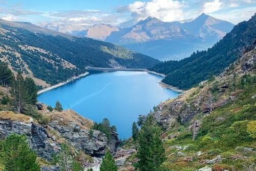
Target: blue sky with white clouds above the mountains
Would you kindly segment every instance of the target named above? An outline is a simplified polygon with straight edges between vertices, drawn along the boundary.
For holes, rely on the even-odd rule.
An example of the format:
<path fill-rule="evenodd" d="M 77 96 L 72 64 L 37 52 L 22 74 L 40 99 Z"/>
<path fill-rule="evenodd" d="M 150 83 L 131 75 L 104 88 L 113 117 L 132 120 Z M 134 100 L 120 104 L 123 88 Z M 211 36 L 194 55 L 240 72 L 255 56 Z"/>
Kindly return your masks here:
<path fill-rule="evenodd" d="M 256 0 L 0 0 L 0 18 L 37 25 L 110 23 L 128 27 L 148 16 L 186 21 L 203 12 L 236 24 L 256 12 Z"/>

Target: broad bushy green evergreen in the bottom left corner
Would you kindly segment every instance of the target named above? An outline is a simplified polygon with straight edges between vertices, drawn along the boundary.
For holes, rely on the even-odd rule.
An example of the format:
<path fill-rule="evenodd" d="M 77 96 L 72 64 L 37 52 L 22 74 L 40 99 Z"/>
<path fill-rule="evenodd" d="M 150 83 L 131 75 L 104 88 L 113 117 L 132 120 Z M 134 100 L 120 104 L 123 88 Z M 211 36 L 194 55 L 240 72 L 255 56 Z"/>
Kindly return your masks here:
<path fill-rule="evenodd" d="M 4 171 L 40 171 L 36 154 L 29 148 L 26 135 L 11 134 L 3 142 Z"/>

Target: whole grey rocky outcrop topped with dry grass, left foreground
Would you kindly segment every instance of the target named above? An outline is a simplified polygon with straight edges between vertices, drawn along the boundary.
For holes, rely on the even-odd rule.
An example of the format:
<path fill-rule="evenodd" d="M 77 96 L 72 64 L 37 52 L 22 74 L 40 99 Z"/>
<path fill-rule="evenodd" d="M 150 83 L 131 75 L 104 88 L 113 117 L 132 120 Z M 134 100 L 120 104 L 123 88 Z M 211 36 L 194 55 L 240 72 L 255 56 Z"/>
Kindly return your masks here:
<path fill-rule="evenodd" d="M 40 125 L 36 119 L 9 111 L 0 112 L 0 139 L 12 133 L 25 134 L 38 157 L 51 162 L 52 155 L 60 150 L 61 143 L 68 143 L 75 151 L 91 157 L 102 157 L 107 148 L 115 152 L 119 142 L 113 132 L 111 140 L 97 130 L 90 130 L 93 122 L 72 110 L 49 112 L 41 106 L 41 113 L 49 118 L 49 124 Z M 42 166 L 42 170 L 58 170 L 55 166 Z"/>

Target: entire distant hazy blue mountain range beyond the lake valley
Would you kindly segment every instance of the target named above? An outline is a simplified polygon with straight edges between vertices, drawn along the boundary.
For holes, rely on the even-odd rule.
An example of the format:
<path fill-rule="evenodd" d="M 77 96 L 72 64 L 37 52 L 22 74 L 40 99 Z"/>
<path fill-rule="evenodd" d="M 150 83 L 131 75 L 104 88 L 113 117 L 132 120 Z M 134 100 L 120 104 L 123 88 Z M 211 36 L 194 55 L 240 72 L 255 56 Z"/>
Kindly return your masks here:
<path fill-rule="evenodd" d="M 73 36 L 111 42 L 160 60 L 180 60 L 214 45 L 234 25 L 202 13 L 188 22 L 163 22 L 155 17 L 147 17 L 130 28 L 103 24 L 53 26 L 48 23 L 41 26 Z"/>

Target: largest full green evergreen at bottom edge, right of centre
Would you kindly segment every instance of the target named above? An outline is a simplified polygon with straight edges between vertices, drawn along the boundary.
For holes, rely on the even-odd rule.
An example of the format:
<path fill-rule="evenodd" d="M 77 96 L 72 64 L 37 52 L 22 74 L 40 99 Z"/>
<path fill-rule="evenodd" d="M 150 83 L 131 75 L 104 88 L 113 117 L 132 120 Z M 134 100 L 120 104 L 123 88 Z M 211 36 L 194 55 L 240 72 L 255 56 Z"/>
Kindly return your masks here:
<path fill-rule="evenodd" d="M 135 167 L 140 171 L 158 171 L 165 161 L 165 150 L 160 139 L 160 130 L 153 116 L 148 116 L 138 135 L 138 163 Z"/>

